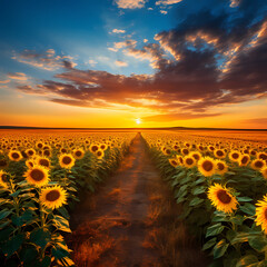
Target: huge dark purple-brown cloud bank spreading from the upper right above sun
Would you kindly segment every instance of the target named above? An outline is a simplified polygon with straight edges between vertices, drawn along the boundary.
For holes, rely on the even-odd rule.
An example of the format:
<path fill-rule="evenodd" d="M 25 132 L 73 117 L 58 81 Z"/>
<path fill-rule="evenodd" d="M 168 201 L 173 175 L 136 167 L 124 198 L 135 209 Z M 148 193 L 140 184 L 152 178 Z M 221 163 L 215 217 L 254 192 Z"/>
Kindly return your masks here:
<path fill-rule="evenodd" d="M 115 43 L 116 51 L 122 48 L 130 56 L 150 60 L 157 68 L 152 76 L 79 70 L 61 59 L 66 70 L 55 76 L 60 82 L 46 80 L 36 88 L 19 89 L 53 95 L 51 101 L 62 105 L 142 106 L 164 113 L 150 120 L 218 116 L 210 115 L 209 108 L 266 96 L 267 17 L 263 10 L 267 4 L 251 2 L 241 0 L 230 8 L 226 1 L 217 10 L 211 6 L 188 13 L 175 29 L 159 32 L 155 37 L 158 43 L 141 49 L 135 40 Z"/>

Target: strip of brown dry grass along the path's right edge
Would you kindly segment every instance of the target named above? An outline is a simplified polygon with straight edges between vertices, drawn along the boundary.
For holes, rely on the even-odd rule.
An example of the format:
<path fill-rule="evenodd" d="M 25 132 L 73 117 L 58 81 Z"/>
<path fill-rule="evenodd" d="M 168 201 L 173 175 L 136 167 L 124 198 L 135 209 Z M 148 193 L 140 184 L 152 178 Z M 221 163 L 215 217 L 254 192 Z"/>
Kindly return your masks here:
<path fill-rule="evenodd" d="M 170 189 L 161 181 L 151 182 L 149 198 L 151 205 L 147 225 L 151 230 L 144 241 L 145 247 L 157 247 L 166 267 L 208 266 L 200 246 L 188 235 L 178 216 L 181 207 L 175 202 Z"/>

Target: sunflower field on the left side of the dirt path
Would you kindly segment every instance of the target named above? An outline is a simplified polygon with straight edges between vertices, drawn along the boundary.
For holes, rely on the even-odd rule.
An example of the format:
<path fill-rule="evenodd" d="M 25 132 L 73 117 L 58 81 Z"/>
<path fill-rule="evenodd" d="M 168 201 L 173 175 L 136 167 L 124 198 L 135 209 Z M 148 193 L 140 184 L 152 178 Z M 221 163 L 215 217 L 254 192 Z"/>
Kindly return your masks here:
<path fill-rule="evenodd" d="M 73 266 L 65 241 L 71 209 L 116 170 L 134 137 L 1 132 L 1 266 Z"/>

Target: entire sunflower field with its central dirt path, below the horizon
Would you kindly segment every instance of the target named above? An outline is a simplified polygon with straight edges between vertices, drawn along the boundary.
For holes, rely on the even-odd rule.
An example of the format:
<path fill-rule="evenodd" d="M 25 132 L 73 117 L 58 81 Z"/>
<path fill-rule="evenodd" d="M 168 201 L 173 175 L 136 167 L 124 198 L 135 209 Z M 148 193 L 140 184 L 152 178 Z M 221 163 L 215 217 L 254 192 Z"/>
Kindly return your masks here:
<path fill-rule="evenodd" d="M 1 130 L 2 266 L 267 266 L 267 132 Z"/>

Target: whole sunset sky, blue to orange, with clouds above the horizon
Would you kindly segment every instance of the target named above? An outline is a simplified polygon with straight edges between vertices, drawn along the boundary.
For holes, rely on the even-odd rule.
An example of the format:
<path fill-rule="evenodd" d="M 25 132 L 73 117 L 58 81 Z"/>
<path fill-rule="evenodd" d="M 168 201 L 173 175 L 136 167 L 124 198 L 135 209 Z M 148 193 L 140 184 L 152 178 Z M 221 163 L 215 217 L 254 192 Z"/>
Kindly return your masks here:
<path fill-rule="evenodd" d="M 267 129 L 267 1 L 3 0 L 0 125 Z"/>

